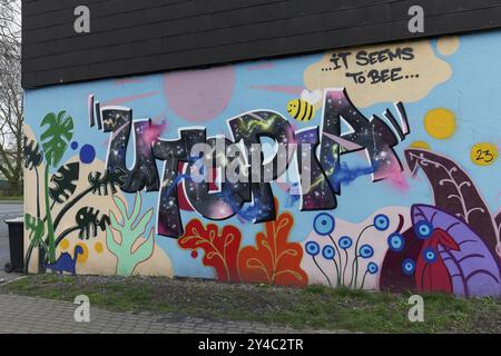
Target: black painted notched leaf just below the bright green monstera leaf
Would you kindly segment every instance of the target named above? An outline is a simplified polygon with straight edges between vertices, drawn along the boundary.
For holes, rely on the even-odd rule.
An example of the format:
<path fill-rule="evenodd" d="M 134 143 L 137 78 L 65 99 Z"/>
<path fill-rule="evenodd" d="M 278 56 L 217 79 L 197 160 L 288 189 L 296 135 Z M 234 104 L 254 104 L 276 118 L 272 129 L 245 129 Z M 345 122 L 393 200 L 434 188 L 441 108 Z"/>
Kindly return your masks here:
<path fill-rule="evenodd" d="M 62 166 L 50 179 L 49 195 L 58 204 L 67 201 L 77 189 L 77 181 L 80 176 L 80 164 L 71 162 Z"/>

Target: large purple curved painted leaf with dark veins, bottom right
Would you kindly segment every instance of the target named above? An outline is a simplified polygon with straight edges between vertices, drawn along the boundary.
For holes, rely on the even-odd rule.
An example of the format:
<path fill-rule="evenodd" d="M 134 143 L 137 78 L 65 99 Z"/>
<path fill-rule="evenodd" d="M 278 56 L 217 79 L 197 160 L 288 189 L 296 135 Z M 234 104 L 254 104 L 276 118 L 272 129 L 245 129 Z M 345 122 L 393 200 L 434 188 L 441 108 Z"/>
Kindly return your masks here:
<path fill-rule="evenodd" d="M 459 245 L 455 251 L 439 245 L 439 253 L 451 276 L 453 291 L 459 296 L 501 296 L 500 269 L 482 239 L 462 220 L 435 207 L 415 205 L 413 225 L 430 222 L 448 233 Z"/>

